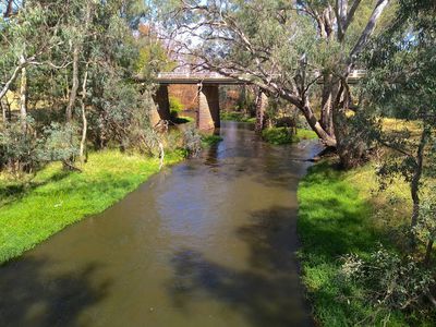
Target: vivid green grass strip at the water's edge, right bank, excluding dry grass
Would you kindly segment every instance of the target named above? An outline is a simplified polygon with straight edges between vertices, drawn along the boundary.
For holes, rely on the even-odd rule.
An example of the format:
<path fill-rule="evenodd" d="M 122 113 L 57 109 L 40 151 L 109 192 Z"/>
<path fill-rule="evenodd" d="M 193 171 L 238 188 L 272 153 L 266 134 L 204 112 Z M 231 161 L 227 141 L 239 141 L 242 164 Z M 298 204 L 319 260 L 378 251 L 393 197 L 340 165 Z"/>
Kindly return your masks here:
<path fill-rule="evenodd" d="M 371 204 L 329 164 L 310 169 L 299 202 L 299 253 L 316 319 L 324 326 L 350 326 L 371 316 L 371 306 L 359 300 L 360 289 L 340 278 L 342 255 L 365 257 L 386 239 L 372 227 Z"/>

